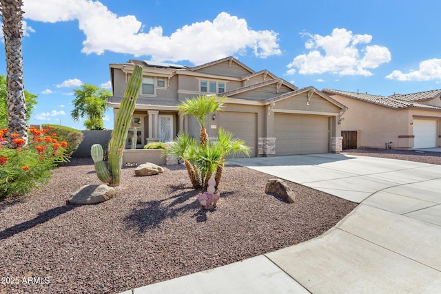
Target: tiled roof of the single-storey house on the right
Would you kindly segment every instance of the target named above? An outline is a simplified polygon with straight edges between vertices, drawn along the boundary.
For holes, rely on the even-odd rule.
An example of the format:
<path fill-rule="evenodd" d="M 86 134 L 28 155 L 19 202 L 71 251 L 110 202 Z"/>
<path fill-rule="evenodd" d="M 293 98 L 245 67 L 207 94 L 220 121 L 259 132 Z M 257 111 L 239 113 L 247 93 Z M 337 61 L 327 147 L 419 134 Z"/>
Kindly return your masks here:
<path fill-rule="evenodd" d="M 380 96 L 373 94 L 363 94 L 355 92 L 347 92 L 340 90 L 323 89 L 322 92 L 326 94 L 337 94 L 359 101 L 365 101 L 384 107 L 393 109 L 408 109 L 408 108 L 422 108 L 422 109 L 441 109 L 439 106 L 427 105 L 419 103 L 418 101 L 427 101 L 436 98 L 441 94 L 441 90 L 431 90 L 426 92 L 419 92 L 413 94 L 393 94 L 391 96 Z M 438 94 L 437 94 L 438 93 Z"/>

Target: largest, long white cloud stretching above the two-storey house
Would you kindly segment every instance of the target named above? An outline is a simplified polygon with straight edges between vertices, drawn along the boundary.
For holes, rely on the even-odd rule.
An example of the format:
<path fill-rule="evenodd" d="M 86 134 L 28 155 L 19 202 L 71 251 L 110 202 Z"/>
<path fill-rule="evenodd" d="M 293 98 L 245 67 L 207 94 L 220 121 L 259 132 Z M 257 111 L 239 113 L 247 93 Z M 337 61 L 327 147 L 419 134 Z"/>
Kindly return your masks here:
<path fill-rule="evenodd" d="M 245 19 L 221 12 L 213 21 L 176 28 L 170 36 L 156 26 L 145 25 L 133 15 L 118 16 L 99 1 L 27 0 L 24 17 L 55 23 L 78 20 L 86 36 L 82 52 L 103 54 L 105 50 L 134 56 L 152 56 L 156 61 L 190 61 L 201 64 L 252 50 L 265 58 L 279 55 L 278 34 L 272 30 L 252 30 Z M 111 38 L 109 36 L 112 36 Z"/>

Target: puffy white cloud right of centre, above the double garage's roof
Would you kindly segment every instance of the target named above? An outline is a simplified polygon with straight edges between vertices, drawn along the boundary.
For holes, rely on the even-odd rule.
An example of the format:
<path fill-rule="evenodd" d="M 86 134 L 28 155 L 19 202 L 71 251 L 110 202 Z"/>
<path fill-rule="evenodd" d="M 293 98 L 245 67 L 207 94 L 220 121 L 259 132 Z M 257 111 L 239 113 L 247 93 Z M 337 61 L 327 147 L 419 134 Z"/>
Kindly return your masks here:
<path fill-rule="evenodd" d="M 376 68 L 391 61 L 391 52 L 380 45 L 371 43 L 369 34 L 352 34 L 345 28 L 335 28 L 331 35 L 302 33 L 309 38 L 305 48 L 307 54 L 296 56 L 287 65 L 287 74 L 332 74 L 371 76 L 367 69 Z"/>

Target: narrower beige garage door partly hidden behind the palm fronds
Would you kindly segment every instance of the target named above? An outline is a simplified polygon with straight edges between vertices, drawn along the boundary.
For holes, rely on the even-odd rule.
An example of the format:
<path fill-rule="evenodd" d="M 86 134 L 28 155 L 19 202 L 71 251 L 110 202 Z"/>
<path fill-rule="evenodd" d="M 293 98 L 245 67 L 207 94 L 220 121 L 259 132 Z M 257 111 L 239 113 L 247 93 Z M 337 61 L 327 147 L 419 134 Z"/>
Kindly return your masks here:
<path fill-rule="evenodd" d="M 252 147 L 249 156 L 256 156 L 256 114 L 247 112 L 220 112 L 219 127 L 233 133 L 233 138 L 245 140 Z"/>

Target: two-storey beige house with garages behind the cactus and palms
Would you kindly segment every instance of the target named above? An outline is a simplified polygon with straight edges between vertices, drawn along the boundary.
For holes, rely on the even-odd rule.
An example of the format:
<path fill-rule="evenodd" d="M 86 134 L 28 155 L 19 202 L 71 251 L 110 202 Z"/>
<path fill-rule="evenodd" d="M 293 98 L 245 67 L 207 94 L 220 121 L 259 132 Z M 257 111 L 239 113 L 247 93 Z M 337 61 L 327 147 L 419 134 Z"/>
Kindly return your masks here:
<path fill-rule="evenodd" d="M 267 70 L 255 72 L 233 57 L 195 67 L 130 60 L 111 63 L 113 96 L 119 111 L 134 65 L 144 68 L 141 92 L 127 148 L 136 128 L 136 147 L 173 140 L 178 132 L 198 138 L 200 127 L 176 105 L 201 94 L 227 96 L 223 111 L 209 114 L 207 132 L 216 138 L 223 127 L 252 147 L 251 156 L 320 154 L 341 151 L 340 116 L 347 109 L 314 87 L 298 87 Z"/>

